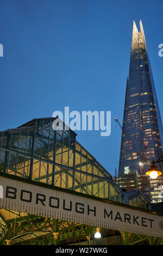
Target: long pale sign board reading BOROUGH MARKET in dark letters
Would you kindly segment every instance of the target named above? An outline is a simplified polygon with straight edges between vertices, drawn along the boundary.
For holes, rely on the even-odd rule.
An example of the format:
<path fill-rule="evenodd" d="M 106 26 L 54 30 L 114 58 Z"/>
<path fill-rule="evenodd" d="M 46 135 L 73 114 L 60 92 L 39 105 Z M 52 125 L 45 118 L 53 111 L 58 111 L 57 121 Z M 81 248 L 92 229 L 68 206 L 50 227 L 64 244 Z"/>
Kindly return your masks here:
<path fill-rule="evenodd" d="M 0 208 L 102 228 L 163 237 L 163 215 L 0 177 Z"/>

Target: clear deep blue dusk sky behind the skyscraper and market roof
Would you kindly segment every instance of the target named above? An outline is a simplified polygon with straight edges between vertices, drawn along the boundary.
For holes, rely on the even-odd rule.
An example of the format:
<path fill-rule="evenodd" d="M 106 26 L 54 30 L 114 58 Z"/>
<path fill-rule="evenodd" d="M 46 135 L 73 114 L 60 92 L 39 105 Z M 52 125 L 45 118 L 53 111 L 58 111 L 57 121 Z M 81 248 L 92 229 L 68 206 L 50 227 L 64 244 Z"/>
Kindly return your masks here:
<path fill-rule="evenodd" d="M 142 20 L 163 117 L 162 0 L 1 0 L 0 130 L 54 111 L 111 111 L 111 134 L 75 131 L 111 175 L 118 170 L 133 21 Z"/>

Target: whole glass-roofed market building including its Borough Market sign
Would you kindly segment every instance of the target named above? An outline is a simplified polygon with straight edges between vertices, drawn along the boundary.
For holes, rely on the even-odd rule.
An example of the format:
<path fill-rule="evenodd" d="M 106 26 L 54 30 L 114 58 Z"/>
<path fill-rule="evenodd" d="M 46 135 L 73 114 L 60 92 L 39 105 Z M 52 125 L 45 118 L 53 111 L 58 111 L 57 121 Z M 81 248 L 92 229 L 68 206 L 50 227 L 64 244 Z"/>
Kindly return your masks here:
<path fill-rule="evenodd" d="M 55 119 L 0 133 L 0 243 L 92 245 L 97 228 L 101 245 L 162 243 L 163 216 L 139 192 L 131 205 L 76 133 L 53 130 Z"/>

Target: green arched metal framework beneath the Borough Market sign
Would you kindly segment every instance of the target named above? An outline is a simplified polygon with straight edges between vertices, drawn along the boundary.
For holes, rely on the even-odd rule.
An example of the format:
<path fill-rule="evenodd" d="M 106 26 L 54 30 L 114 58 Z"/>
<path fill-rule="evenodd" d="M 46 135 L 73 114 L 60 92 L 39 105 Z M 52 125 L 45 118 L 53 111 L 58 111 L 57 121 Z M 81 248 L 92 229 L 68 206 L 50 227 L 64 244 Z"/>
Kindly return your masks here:
<path fill-rule="evenodd" d="M 95 231 L 96 227 L 81 223 L 0 210 L 0 245 L 65 245 L 80 241 L 90 245 Z M 103 236 L 112 234 L 111 230 L 105 229 L 101 229 L 101 233 Z M 114 235 L 118 233 L 122 245 L 163 245 L 163 239 L 158 237 L 114 231 Z"/>

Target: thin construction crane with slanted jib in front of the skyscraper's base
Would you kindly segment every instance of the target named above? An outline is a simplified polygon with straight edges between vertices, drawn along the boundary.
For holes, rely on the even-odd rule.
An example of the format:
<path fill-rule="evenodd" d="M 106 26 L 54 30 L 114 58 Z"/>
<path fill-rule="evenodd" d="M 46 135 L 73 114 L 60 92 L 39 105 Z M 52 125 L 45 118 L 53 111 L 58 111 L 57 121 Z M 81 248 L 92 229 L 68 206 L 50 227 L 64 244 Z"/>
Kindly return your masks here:
<path fill-rule="evenodd" d="M 122 130 L 122 125 L 121 125 L 121 123 L 118 121 L 117 118 L 115 119 L 115 121 L 118 123 L 118 125 L 120 126 L 120 128 L 121 128 L 121 130 Z M 135 149 L 137 155 L 139 156 L 139 159 L 140 159 L 139 165 L 140 165 L 140 183 L 141 183 L 141 191 L 142 191 L 142 193 L 144 193 L 144 192 L 145 192 L 145 187 L 144 187 L 144 180 L 143 180 L 143 174 L 144 174 L 144 172 L 143 172 L 143 163 L 144 163 L 144 162 L 147 162 L 147 157 L 145 157 L 145 151 L 146 151 L 146 148 L 147 148 L 147 144 L 145 143 L 145 148 L 144 148 L 143 152 L 140 153 L 140 152 L 137 150 L 137 148 L 135 147 L 135 144 L 133 143 L 133 141 L 131 140 L 131 138 L 127 135 L 127 133 L 124 134 L 124 135 L 127 137 L 128 141 L 131 143 L 131 145 L 132 145 L 133 148 Z"/>

